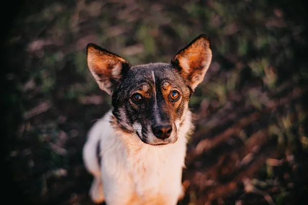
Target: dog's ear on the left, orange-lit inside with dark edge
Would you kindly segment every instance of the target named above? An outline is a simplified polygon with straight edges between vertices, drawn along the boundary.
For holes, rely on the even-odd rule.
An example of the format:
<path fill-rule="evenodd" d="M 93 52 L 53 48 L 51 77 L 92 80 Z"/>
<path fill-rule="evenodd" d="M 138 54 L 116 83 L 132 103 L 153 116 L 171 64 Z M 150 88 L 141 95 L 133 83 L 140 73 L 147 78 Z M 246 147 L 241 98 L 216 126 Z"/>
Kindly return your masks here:
<path fill-rule="evenodd" d="M 120 85 L 123 76 L 131 67 L 119 55 L 95 44 L 87 46 L 87 63 L 99 87 L 108 94 Z"/>

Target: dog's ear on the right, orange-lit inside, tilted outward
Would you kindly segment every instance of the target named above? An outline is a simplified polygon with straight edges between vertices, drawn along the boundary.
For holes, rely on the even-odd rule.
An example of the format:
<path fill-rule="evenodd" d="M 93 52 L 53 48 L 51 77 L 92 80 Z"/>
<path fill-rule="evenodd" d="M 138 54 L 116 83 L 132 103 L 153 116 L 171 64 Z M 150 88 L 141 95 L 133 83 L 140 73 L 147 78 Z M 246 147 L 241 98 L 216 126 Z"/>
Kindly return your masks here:
<path fill-rule="evenodd" d="M 201 34 L 180 50 L 171 60 L 171 64 L 179 70 L 190 89 L 194 91 L 203 80 L 211 57 L 209 38 L 207 35 Z"/>

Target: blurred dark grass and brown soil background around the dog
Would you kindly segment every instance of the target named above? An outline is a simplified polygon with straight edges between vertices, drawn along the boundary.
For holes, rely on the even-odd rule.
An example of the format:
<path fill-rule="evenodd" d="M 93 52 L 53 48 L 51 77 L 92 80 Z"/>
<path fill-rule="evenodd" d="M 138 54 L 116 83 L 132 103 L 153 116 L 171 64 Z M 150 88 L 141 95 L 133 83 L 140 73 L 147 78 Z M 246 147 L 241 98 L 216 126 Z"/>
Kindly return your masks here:
<path fill-rule="evenodd" d="M 169 63 L 201 33 L 213 60 L 190 99 L 199 118 L 179 204 L 308 204 L 304 3 L 28 0 L 3 10 L 10 204 L 92 204 L 82 147 L 110 98 L 87 68 L 88 43 L 132 65 Z"/>

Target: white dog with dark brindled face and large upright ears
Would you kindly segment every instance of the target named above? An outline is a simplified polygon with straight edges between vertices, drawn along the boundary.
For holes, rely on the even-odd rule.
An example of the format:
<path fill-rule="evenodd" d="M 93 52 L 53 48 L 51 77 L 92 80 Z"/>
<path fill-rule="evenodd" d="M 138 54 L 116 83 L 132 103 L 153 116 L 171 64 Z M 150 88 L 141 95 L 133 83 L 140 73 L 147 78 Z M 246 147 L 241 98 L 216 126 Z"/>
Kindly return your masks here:
<path fill-rule="evenodd" d="M 194 128 L 188 101 L 211 57 L 206 34 L 192 40 L 170 64 L 131 66 L 119 55 L 88 44 L 88 68 L 112 104 L 90 129 L 83 148 L 85 167 L 94 177 L 89 191 L 93 202 L 172 205 L 184 196 L 182 170 Z"/>

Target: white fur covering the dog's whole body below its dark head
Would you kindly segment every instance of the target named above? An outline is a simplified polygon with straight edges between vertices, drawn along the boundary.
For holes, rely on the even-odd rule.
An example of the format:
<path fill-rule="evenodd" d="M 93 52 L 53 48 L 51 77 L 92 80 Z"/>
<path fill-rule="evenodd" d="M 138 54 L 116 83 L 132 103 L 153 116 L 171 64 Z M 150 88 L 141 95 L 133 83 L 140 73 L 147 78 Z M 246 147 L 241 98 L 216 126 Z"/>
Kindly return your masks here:
<path fill-rule="evenodd" d="M 190 111 L 178 129 L 178 140 L 163 146 L 145 144 L 136 134 L 125 134 L 112 127 L 111 115 L 109 111 L 95 123 L 83 150 L 85 166 L 94 176 L 90 189 L 92 200 L 105 199 L 108 205 L 177 204 L 183 195 L 181 179 L 185 166 L 185 133 L 191 128 Z M 139 129 L 140 125 L 134 127 Z M 99 140 L 101 168 L 96 157 Z"/>

